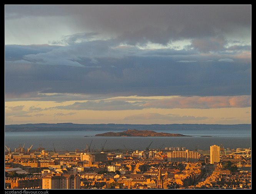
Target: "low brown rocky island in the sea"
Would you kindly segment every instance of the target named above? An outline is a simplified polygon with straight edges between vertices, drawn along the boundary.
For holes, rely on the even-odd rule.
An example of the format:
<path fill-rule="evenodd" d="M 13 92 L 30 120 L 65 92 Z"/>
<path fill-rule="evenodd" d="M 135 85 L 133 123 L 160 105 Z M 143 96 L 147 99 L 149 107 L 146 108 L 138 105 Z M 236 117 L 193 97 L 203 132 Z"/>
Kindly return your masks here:
<path fill-rule="evenodd" d="M 148 131 L 148 130 L 130 130 L 124 132 L 107 132 L 107 133 L 101 133 L 97 134 L 95 136 L 108 136 L 108 137 L 115 137 L 115 136 L 130 136 L 130 137 L 185 137 L 190 135 L 182 135 L 179 133 L 158 133 L 154 131 Z"/>

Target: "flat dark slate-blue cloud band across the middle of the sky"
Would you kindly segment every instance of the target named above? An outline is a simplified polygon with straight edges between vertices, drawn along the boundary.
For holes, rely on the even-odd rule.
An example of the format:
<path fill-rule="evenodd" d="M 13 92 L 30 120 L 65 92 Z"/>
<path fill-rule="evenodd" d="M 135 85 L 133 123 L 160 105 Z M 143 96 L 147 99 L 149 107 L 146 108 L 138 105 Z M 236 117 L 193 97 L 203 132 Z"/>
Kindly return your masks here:
<path fill-rule="evenodd" d="M 182 59 L 197 62 L 175 62 Z M 250 63 L 236 62 L 235 59 L 232 59 L 234 62 L 226 62 L 227 58 L 223 59 L 206 62 L 201 61 L 200 55 L 193 58 L 95 58 L 96 66 L 101 68 L 31 65 L 9 61 L 5 67 L 5 95 L 7 98 L 30 97 L 36 92 L 112 96 L 249 95 Z M 93 66 L 90 60 L 80 59 L 79 64 Z M 55 61 L 58 62 L 58 59 Z"/>

